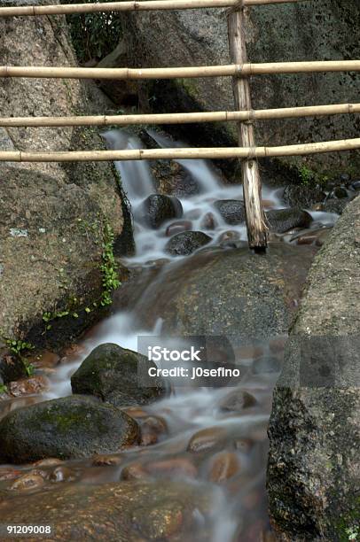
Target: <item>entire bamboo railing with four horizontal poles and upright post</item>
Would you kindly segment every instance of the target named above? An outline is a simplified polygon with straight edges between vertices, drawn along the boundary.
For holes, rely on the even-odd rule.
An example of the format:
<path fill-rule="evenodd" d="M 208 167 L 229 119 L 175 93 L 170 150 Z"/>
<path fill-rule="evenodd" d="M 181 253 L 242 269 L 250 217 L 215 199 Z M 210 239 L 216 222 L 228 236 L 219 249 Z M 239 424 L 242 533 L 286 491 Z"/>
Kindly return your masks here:
<path fill-rule="evenodd" d="M 272 62 L 252 64 L 247 61 L 243 10 L 262 4 L 295 4 L 308 0 L 149 0 L 96 4 L 58 4 L 1 7 L 0 17 L 19 15 L 66 15 L 83 12 L 141 12 L 151 10 L 187 10 L 199 8 L 231 8 L 228 11 L 229 43 L 232 64 L 228 66 L 189 66 L 164 68 L 81 68 L 57 66 L 0 66 L 0 77 L 36 77 L 64 79 L 175 79 L 193 77 L 232 77 L 235 102 L 239 111 L 193 112 L 146 115 L 102 115 L 79 117 L 0 118 L 3 127 L 106 126 L 129 124 L 183 124 L 186 122 L 236 121 L 239 123 L 239 147 L 151 149 L 133 151 L 66 151 L 25 152 L 2 151 L 1 161 L 64 162 L 134 159 L 243 159 L 243 185 L 249 246 L 263 250 L 267 244 L 267 228 L 263 220 L 261 180 L 257 158 L 297 156 L 360 148 L 360 138 L 324 143 L 307 143 L 279 147 L 256 147 L 254 120 L 299 118 L 306 116 L 349 114 L 360 112 L 360 104 L 318 105 L 254 111 L 251 105 L 248 77 L 262 74 L 303 74 L 318 72 L 360 72 L 360 60 L 314 62 Z"/>

